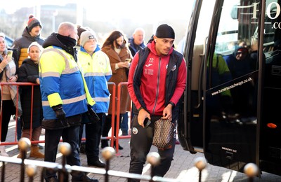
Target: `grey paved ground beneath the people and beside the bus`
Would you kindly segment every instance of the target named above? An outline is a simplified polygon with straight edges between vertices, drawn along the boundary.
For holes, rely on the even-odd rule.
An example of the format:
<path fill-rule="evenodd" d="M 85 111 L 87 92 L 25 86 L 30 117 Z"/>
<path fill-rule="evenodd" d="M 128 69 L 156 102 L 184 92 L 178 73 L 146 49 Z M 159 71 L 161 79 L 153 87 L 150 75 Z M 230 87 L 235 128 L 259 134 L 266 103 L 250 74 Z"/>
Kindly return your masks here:
<path fill-rule="evenodd" d="M 14 141 L 15 137 L 15 122 L 11 120 L 8 132 L 7 141 Z M 44 139 L 42 134 L 41 139 Z M 129 139 L 120 139 L 119 143 L 124 147 L 124 150 L 119 151 L 117 155 L 110 161 L 110 169 L 120 172 L 129 171 Z M 16 158 L 18 155 L 18 147 L 15 145 L 6 146 L 8 154 L 12 158 Z M 41 150 L 44 152 L 44 150 Z M 152 146 L 151 151 L 156 151 L 156 148 Z M 28 154 L 27 154 L 28 155 Z M 61 155 L 58 155 L 57 162 L 61 162 Z M 199 181 L 199 172 L 194 167 L 194 160 L 197 157 L 202 157 L 201 153 L 190 154 L 188 151 L 183 151 L 180 145 L 176 145 L 176 152 L 174 154 L 174 161 L 171 164 L 171 168 L 165 177 L 169 179 L 178 179 L 178 181 Z M 81 165 L 87 167 L 86 155 L 81 154 Z M 102 157 L 100 157 L 102 158 Z M 30 158 L 31 160 L 41 160 Z M 0 164 L 2 169 L 2 164 Z M 96 168 L 98 170 L 98 168 Z M 41 168 L 37 169 L 37 175 L 34 177 L 34 181 L 40 181 Z M 97 171 L 98 172 L 98 171 Z M 150 165 L 145 165 L 144 174 L 150 174 Z M 1 176 L 1 174 L 0 174 Z M 105 176 L 100 174 L 89 174 L 90 177 L 99 179 L 100 182 L 105 180 Z M 8 164 L 6 165 L 5 181 L 20 181 L 20 165 Z M 27 177 L 25 178 L 27 181 Z M 126 181 L 126 179 L 119 177 L 110 177 L 110 181 L 119 182 Z M 222 167 L 216 167 L 213 165 L 207 165 L 207 168 L 202 171 L 202 181 L 249 181 L 245 174 L 235 172 L 230 169 L 224 169 Z M 273 174 L 263 173 L 261 179 L 254 178 L 254 181 L 281 181 L 281 176 Z"/>

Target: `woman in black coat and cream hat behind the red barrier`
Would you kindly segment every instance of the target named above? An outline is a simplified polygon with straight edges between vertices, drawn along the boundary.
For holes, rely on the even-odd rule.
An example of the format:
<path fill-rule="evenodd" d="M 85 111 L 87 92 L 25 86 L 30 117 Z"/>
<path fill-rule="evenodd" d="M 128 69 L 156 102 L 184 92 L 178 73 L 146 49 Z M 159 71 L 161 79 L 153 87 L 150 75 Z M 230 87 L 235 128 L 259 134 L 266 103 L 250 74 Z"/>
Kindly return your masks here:
<path fill-rule="evenodd" d="M 29 57 L 22 62 L 22 66 L 18 71 L 18 82 L 37 83 L 39 82 L 39 58 L 43 51 L 42 46 L 33 42 L 27 49 Z M 22 103 L 22 137 L 30 139 L 31 141 L 39 141 L 41 135 L 41 122 L 43 120 L 42 102 L 40 86 L 35 85 L 33 90 L 32 102 L 32 86 L 21 86 L 22 92 L 20 94 L 20 101 Z M 31 104 L 32 116 L 31 116 Z M 30 125 L 32 119 L 32 126 Z M 32 133 L 30 133 L 32 127 Z M 30 138 L 31 137 L 31 138 Z M 22 155 L 18 155 L 22 158 Z M 30 158 L 44 158 L 44 154 L 39 151 L 38 144 L 32 144 Z"/>

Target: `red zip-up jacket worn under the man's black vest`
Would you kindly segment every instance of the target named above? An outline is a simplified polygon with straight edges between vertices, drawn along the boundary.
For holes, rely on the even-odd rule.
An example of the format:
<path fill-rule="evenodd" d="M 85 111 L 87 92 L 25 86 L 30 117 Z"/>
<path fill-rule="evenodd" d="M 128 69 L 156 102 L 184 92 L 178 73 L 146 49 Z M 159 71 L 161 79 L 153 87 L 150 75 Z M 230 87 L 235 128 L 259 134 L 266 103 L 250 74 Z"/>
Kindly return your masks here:
<path fill-rule="evenodd" d="M 163 57 L 159 57 L 157 55 L 155 50 L 155 42 L 149 43 L 148 48 L 150 49 L 150 53 L 145 60 L 145 66 L 143 66 L 143 73 L 141 75 L 141 95 L 145 102 L 147 111 L 152 115 L 162 116 L 163 110 L 165 108 L 166 70 L 171 52 L 173 52 L 173 48 L 171 48 L 168 55 Z M 135 72 L 136 66 L 138 65 L 138 53 L 133 57 L 128 79 L 129 94 L 133 103 L 136 105 L 136 109 L 141 108 L 141 104 L 138 102 L 138 98 L 133 90 L 133 74 Z M 179 68 L 176 69 L 178 69 L 176 90 L 169 101 L 174 102 L 174 104 L 178 103 L 178 100 L 181 98 L 181 95 L 185 90 L 186 65 L 184 59 Z"/>

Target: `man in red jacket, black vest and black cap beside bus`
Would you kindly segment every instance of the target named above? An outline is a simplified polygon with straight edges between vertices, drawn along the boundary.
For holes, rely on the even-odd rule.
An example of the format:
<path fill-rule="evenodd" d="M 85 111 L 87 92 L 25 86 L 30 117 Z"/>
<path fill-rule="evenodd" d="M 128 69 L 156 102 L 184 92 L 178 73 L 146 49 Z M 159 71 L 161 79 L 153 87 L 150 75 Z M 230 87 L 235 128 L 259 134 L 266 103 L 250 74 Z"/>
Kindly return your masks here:
<path fill-rule="evenodd" d="M 153 139 L 154 122 L 159 118 L 175 123 L 178 101 L 186 85 L 186 64 L 181 53 L 174 50 L 175 33 L 169 25 L 160 25 L 147 47 L 133 57 L 129 71 L 128 90 L 136 106 L 131 123 L 130 173 L 141 174 Z M 147 124 L 151 120 L 151 124 Z M 171 148 L 159 150 L 160 164 L 156 176 L 164 176 L 171 166 L 176 130 Z M 139 181 L 130 179 L 130 181 Z"/>

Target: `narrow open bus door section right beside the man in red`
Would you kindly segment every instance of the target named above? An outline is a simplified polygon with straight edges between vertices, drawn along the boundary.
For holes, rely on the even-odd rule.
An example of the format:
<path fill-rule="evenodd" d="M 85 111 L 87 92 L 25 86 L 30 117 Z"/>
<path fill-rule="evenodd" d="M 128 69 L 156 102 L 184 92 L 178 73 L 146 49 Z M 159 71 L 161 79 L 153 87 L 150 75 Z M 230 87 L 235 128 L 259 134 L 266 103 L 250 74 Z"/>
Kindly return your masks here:
<path fill-rule="evenodd" d="M 184 150 L 203 152 L 202 70 L 205 41 L 211 25 L 214 0 L 194 0 L 183 55 L 188 66 L 184 106 L 178 119 L 178 139 Z"/>

